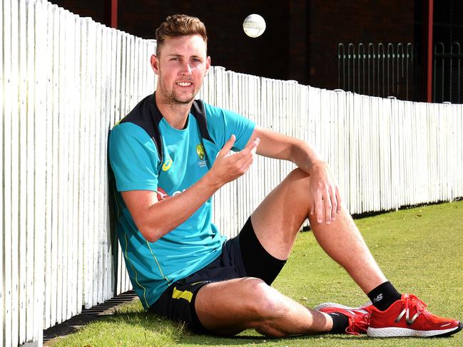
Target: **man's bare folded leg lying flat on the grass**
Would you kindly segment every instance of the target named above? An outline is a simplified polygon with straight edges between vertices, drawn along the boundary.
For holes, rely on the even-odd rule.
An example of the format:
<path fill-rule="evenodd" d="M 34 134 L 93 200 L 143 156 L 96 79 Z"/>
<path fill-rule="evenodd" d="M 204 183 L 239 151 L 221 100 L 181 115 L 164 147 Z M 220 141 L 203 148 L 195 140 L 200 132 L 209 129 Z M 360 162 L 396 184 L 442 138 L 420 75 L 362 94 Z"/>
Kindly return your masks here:
<path fill-rule="evenodd" d="M 254 328 L 265 336 L 281 337 L 332 328 L 327 314 L 307 309 L 252 277 L 203 286 L 196 296 L 195 309 L 203 326 L 220 335 Z"/>

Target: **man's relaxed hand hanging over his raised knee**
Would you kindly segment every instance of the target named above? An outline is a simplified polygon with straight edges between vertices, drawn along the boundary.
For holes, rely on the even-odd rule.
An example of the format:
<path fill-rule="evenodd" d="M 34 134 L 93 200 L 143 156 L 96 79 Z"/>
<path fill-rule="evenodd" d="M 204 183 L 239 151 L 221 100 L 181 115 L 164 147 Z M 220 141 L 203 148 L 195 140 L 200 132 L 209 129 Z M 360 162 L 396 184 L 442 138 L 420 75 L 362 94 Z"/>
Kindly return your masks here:
<path fill-rule="evenodd" d="M 317 222 L 330 224 L 336 213 L 341 212 L 341 196 L 339 188 L 326 162 L 317 161 L 312 164 L 310 175 L 310 199 L 313 200 L 310 214 L 317 215 Z"/>

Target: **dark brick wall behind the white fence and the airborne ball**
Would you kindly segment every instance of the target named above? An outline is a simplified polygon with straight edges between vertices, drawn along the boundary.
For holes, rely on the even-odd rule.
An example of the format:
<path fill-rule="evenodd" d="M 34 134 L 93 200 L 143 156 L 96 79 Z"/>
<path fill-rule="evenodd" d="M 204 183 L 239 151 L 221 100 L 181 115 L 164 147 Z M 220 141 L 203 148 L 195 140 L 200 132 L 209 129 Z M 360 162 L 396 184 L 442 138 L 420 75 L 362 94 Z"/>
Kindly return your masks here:
<path fill-rule="evenodd" d="M 110 0 L 54 0 L 81 16 L 108 23 Z M 118 0 L 118 29 L 154 38 L 169 14 L 198 16 L 208 29 L 215 66 L 268 78 L 337 88 L 337 43 L 413 42 L 415 0 Z M 265 33 L 249 38 L 243 20 L 257 13 Z"/>

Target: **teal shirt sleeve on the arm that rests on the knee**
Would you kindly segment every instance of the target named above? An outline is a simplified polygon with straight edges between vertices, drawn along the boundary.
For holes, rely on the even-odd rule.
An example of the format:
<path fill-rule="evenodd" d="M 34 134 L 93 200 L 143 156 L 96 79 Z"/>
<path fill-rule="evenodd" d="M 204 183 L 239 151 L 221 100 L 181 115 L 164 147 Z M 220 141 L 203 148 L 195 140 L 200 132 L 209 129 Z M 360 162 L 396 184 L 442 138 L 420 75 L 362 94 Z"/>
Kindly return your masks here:
<path fill-rule="evenodd" d="M 255 123 L 238 113 L 205 103 L 205 112 L 208 116 L 208 130 L 215 140 L 215 144 L 222 148 L 235 135 L 235 145 L 232 150 L 243 150 L 248 143 L 255 128 Z"/>

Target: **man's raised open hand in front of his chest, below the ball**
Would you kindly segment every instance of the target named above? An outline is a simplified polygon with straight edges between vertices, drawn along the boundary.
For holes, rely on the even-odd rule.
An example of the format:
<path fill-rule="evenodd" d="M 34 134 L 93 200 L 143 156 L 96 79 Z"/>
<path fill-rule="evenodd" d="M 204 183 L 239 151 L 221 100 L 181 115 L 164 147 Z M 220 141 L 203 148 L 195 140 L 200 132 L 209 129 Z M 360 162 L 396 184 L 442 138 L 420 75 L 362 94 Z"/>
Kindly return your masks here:
<path fill-rule="evenodd" d="M 210 168 L 210 175 L 215 182 L 220 185 L 225 185 L 228 182 L 236 180 L 238 177 L 244 175 L 248 171 L 255 157 L 255 151 L 259 145 L 260 139 L 255 138 L 246 145 L 243 150 L 233 155 L 230 155 L 230 150 L 235 143 L 235 135 L 231 135 L 222 150 L 218 152 L 213 167 Z"/>

